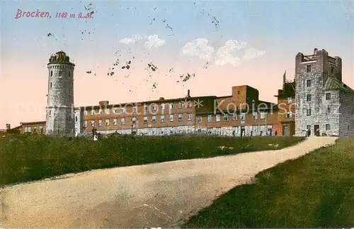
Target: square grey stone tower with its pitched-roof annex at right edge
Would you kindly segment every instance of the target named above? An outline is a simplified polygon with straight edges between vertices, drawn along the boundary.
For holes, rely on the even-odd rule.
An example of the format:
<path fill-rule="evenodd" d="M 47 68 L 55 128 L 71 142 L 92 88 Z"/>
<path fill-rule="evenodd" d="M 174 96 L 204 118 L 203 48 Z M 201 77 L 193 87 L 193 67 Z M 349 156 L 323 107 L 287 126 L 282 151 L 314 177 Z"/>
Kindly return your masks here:
<path fill-rule="evenodd" d="M 299 52 L 295 65 L 295 135 L 307 129 L 311 135 L 354 135 L 354 91 L 342 82 L 341 57 L 315 49 Z"/>

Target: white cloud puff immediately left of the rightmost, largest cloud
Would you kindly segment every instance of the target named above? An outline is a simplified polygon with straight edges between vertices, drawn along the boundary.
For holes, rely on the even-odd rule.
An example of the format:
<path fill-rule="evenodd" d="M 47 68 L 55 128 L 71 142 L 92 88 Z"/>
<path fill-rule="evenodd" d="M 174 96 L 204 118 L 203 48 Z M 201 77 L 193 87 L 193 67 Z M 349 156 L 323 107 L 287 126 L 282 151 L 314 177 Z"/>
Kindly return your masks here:
<path fill-rule="evenodd" d="M 212 60 L 214 48 L 207 46 L 208 40 L 198 38 L 190 43 L 186 43 L 182 48 L 180 55 L 189 55 L 191 57 L 199 57 L 202 60 Z"/>

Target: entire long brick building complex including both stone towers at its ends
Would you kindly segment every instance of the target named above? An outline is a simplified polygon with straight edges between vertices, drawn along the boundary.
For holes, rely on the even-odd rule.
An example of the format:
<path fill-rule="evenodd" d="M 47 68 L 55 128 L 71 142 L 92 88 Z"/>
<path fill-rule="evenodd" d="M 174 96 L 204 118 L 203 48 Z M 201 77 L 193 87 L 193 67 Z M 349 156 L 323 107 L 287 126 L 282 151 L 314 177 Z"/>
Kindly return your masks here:
<path fill-rule="evenodd" d="M 329 57 L 325 50 L 297 54 L 295 79 L 287 82 L 283 75 L 282 87 L 275 95 L 277 104 L 260 100 L 257 89 L 243 85 L 232 86 L 228 96 L 191 96 L 188 90 L 174 99 L 124 104 L 100 101 L 69 109 L 66 101 L 74 98 L 74 64 L 61 51 L 50 57 L 48 66 L 50 71 L 55 66 L 57 74 L 50 72 L 47 121 L 21 123 L 21 133 L 79 135 L 96 128 L 101 133 L 137 135 L 303 136 L 310 129 L 312 135 L 354 135 L 354 91 L 341 81 L 341 58 Z M 61 115 L 53 116 L 57 103 Z M 47 130 L 42 130 L 43 126 Z"/>

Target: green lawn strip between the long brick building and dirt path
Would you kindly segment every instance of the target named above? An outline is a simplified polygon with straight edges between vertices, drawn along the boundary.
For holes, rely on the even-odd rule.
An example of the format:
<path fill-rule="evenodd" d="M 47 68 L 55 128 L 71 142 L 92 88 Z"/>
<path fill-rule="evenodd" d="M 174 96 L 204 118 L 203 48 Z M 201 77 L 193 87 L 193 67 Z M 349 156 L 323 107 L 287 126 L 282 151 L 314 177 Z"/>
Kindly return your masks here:
<path fill-rule="evenodd" d="M 304 138 L 121 135 L 93 142 L 84 137 L 0 135 L 0 186 L 90 169 L 274 150 L 301 140 Z"/>

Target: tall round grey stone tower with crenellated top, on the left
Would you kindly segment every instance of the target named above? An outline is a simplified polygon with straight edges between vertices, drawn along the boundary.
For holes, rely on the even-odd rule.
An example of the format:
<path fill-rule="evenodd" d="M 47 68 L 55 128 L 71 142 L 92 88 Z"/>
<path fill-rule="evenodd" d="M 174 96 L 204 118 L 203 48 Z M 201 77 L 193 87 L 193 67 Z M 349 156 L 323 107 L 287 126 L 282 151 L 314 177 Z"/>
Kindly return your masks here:
<path fill-rule="evenodd" d="M 48 94 L 46 135 L 74 134 L 74 67 L 63 51 L 50 56 L 47 64 Z"/>

